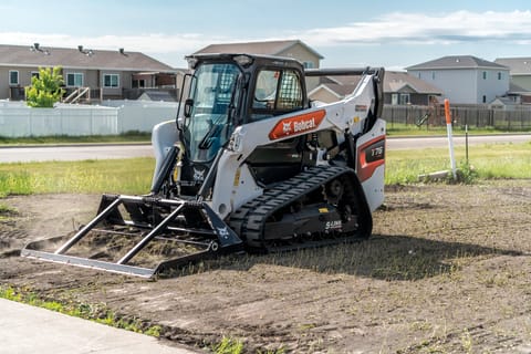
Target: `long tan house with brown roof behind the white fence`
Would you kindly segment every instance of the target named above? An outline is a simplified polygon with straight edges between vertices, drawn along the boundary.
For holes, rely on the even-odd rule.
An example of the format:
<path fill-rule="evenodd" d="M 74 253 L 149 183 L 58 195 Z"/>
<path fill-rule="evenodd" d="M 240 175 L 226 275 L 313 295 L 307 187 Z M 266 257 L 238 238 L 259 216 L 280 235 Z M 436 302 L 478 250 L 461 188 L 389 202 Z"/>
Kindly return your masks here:
<path fill-rule="evenodd" d="M 124 49 L 0 44 L 0 100 L 23 100 L 24 86 L 39 75 L 39 67 L 54 66 L 62 67 L 66 95 L 74 91 L 82 93 L 80 87 L 83 87 L 84 97 L 92 100 L 135 100 L 149 88 L 168 90 L 177 97 L 184 75 L 146 54 Z"/>

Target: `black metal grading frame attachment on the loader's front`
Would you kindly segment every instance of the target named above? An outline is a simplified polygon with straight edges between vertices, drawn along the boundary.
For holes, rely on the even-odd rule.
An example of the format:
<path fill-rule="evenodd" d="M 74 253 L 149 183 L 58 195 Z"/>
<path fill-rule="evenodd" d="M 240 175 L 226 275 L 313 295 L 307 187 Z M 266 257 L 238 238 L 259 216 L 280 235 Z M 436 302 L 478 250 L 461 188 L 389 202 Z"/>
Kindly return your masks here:
<path fill-rule="evenodd" d="M 97 216 L 70 239 L 30 242 L 21 256 L 150 278 L 241 249 L 206 202 L 104 195 Z"/>

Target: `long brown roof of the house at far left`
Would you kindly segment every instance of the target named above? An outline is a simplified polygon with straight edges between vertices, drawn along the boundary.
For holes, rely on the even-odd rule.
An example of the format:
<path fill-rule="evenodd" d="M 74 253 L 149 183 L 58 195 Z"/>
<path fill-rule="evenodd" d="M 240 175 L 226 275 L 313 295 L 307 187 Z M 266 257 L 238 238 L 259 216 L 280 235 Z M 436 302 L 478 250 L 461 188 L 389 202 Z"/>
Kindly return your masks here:
<path fill-rule="evenodd" d="M 175 72 L 171 66 L 139 52 L 124 51 L 122 53 L 118 50 L 67 49 L 42 45 L 0 44 L 0 65 L 10 67 L 62 66 L 63 69 L 79 70 Z"/>

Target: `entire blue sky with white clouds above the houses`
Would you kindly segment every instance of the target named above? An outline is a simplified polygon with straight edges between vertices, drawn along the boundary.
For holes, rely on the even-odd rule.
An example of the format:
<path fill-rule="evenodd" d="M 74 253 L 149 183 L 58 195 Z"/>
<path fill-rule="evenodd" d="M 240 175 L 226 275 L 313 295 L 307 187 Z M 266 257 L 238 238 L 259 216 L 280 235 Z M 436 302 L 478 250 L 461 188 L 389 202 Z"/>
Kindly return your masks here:
<path fill-rule="evenodd" d="M 174 67 L 209 44 L 301 40 L 321 67 L 531 56 L 529 0 L 2 0 L 0 44 L 143 52 Z"/>

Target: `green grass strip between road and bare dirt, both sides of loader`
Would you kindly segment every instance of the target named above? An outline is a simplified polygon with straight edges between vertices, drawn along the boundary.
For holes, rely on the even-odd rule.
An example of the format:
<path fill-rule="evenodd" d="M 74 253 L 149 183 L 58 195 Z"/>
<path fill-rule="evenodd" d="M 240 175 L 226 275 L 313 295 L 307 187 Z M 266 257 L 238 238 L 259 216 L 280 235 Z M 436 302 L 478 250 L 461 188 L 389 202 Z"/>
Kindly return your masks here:
<path fill-rule="evenodd" d="M 448 149 L 387 152 L 386 185 L 416 183 L 418 175 L 449 169 Z M 456 148 L 458 167 L 465 147 Z M 531 143 L 473 146 L 469 164 L 478 178 L 531 178 Z M 147 194 L 153 158 L 0 164 L 0 197 L 46 192 Z"/>

